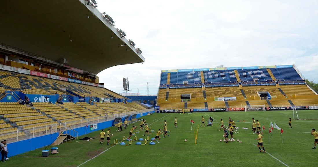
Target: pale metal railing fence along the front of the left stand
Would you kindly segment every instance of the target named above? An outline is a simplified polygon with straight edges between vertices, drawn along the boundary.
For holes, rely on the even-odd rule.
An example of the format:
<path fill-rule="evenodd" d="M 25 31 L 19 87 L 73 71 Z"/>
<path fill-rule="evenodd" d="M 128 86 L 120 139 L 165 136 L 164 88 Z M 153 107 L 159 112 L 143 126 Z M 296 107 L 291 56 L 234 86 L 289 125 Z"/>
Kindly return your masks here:
<path fill-rule="evenodd" d="M 89 126 L 97 123 L 102 123 L 110 120 L 114 120 L 115 118 L 123 118 L 129 115 L 140 114 L 144 112 L 152 112 L 154 109 L 144 109 L 139 111 L 131 111 L 125 113 L 112 114 L 102 117 L 94 117 L 88 119 L 79 119 L 68 122 L 60 122 L 59 124 L 47 124 L 45 126 L 33 126 L 24 129 L 17 129 L 14 132 L 8 132 L 0 134 L 1 140 L 7 140 L 8 143 L 13 143 L 16 141 L 21 141 L 29 138 L 35 138 L 47 134 L 52 133 L 62 133 L 65 130 L 75 129 L 83 126 Z"/>

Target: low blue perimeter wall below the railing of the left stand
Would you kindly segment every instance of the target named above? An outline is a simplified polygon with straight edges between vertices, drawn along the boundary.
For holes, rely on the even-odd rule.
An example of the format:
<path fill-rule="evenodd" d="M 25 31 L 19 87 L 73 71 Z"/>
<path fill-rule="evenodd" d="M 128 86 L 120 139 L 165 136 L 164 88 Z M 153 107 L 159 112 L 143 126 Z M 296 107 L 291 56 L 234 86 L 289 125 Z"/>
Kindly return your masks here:
<path fill-rule="evenodd" d="M 136 118 L 146 116 L 147 114 L 148 114 L 148 112 L 145 112 L 142 114 L 137 114 Z M 86 131 L 87 131 L 87 134 L 91 133 L 91 132 L 95 132 L 95 131 L 100 131 L 101 129 L 105 129 L 105 128 L 113 126 L 113 124 L 114 124 L 114 120 L 98 123 L 97 129 L 94 129 L 92 131 L 89 130 L 89 125 L 87 125 Z M 74 129 L 74 130 L 78 132 L 78 136 L 82 136 L 82 135 L 85 135 L 85 129 L 86 129 L 86 126 L 79 127 L 79 128 Z M 45 136 L 40 136 L 40 137 L 36 137 L 36 138 L 30 138 L 30 139 L 26 139 L 26 140 L 22 140 L 22 141 L 17 141 L 14 143 L 9 143 L 8 150 L 10 149 L 10 151 L 9 151 L 8 155 L 10 157 L 12 157 L 12 156 L 15 156 L 18 154 L 22 154 L 22 153 L 25 153 L 28 151 L 42 148 L 44 146 L 48 146 L 48 149 L 50 149 L 51 148 L 50 145 L 56 140 L 56 138 L 58 136 L 59 136 L 59 133 L 52 133 L 52 134 L 48 134 Z M 54 146 L 52 146 L 52 147 L 54 147 Z"/>

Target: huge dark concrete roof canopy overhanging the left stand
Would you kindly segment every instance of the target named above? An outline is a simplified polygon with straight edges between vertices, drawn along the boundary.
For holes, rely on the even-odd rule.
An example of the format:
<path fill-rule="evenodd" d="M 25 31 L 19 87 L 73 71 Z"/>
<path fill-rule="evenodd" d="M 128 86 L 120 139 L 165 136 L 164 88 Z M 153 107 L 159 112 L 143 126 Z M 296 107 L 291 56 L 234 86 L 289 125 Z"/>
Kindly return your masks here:
<path fill-rule="evenodd" d="M 120 6 L 118 6 L 120 8 Z M 0 42 L 36 55 L 99 73 L 144 62 L 125 37 L 84 0 L 2 1 Z"/>

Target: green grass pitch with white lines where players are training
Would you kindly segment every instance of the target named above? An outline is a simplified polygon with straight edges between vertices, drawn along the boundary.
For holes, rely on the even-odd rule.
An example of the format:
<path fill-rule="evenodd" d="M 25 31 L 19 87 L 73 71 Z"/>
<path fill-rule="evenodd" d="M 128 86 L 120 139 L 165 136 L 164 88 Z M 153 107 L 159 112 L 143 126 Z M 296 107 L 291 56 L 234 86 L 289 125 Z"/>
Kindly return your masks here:
<path fill-rule="evenodd" d="M 190 119 L 195 121 L 197 128 L 201 125 L 201 116 L 204 116 L 206 122 L 210 115 L 216 119 L 213 126 L 199 127 L 197 145 L 194 142 L 194 130 L 190 130 Z M 299 111 L 301 118 L 318 118 L 317 110 Z M 178 127 L 174 127 L 174 117 L 177 117 Z M 231 117 L 239 126 L 238 133 L 234 133 L 234 139 L 237 141 L 220 142 L 223 138 L 223 131 L 220 129 L 219 120 L 225 120 L 227 125 L 228 118 Z M 288 118 L 293 118 L 293 111 L 266 111 L 266 112 L 200 112 L 193 114 L 176 113 L 154 113 L 145 116 L 149 127 L 157 131 L 163 128 L 164 120 L 167 121 L 170 137 L 161 138 L 160 143 L 156 145 L 135 145 L 133 142 L 129 146 L 108 146 L 107 142 L 100 145 L 99 132 L 93 132 L 85 136 L 95 137 L 89 142 L 82 140 L 73 140 L 61 144 L 59 154 L 49 157 L 40 157 L 41 149 L 30 151 L 21 155 L 10 157 L 10 160 L 3 163 L 5 166 L 77 166 L 88 159 L 104 153 L 88 161 L 82 166 L 284 166 L 281 162 L 266 153 L 259 153 L 256 134 L 252 133 L 252 117 L 258 119 L 261 125 L 266 128 L 263 134 L 264 147 L 268 153 L 284 162 L 288 166 L 316 166 L 318 149 L 313 150 L 314 137 L 310 132 L 312 128 L 318 129 L 318 120 L 292 120 L 292 129 L 289 129 Z M 238 122 L 238 120 L 240 122 Z M 243 122 L 245 121 L 245 122 Z M 273 138 L 270 137 L 268 143 L 268 126 L 272 121 L 284 129 L 283 144 L 281 143 L 281 134 L 279 130 L 274 129 Z M 134 123 L 139 125 L 139 121 Z M 112 127 L 111 141 L 120 140 L 122 136 L 128 136 L 132 125 L 128 125 L 127 130 L 123 132 L 115 131 Z M 249 130 L 241 129 L 249 127 Z M 137 126 L 138 130 L 139 127 Z M 136 133 L 138 138 L 144 138 L 142 133 Z M 150 136 L 155 137 L 155 134 Z M 161 135 L 163 137 L 163 135 Z M 184 142 L 187 139 L 187 142 Z M 127 142 L 126 142 L 127 143 Z M 50 148 L 50 146 L 48 146 Z M 10 149 L 10 145 L 8 145 Z M 10 151 L 10 150 L 9 150 Z M 10 152 L 9 152 L 10 155 Z M 0 163 L 0 166 L 3 165 Z"/>

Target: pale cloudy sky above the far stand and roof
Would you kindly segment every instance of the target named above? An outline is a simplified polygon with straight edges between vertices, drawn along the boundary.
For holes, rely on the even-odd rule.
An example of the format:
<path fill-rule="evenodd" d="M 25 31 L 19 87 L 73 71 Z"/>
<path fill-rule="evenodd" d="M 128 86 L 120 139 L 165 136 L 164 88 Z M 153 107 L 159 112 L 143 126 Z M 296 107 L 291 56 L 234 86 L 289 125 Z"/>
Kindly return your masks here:
<path fill-rule="evenodd" d="M 100 83 L 157 94 L 161 69 L 295 64 L 318 82 L 318 1 L 97 0 L 146 62 L 110 67 Z"/>

